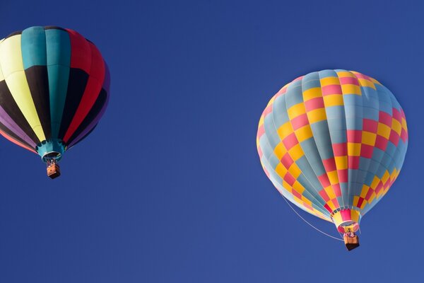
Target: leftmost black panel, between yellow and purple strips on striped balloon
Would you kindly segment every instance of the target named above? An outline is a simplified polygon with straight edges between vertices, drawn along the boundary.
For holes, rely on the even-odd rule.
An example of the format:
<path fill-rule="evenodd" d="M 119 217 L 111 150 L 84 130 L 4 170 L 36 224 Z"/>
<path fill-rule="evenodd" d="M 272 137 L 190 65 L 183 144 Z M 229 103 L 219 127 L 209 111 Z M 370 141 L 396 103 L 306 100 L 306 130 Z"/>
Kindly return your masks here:
<path fill-rule="evenodd" d="M 13 99 L 13 96 L 6 85 L 6 81 L 0 81 L 0 105 L 11 119 L 16 122 L 20 129 L 22 129 L 25 134 L 28 134 L 28 137 L 30 137 L 35 144 L 40 143 L 40 139 L 38 139 L 30 124 L 20 111 L 18 104 L 16 104 Z"/>

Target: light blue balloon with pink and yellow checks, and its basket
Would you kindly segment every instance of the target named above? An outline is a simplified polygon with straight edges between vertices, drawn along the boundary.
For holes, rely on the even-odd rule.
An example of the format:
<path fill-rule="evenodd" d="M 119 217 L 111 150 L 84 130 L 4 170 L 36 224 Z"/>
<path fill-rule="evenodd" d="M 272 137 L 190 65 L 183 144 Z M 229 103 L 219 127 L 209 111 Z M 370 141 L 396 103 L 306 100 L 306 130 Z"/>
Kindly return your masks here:
<path fill-rule="evenodd" d="M 336 225 L 348 250 L 360 220 L 386 195 L 408 146 L 404 110 L 356 71 L 315 71 L 276 93 L 259 120 L 257 149 L 287 200 Z"/>

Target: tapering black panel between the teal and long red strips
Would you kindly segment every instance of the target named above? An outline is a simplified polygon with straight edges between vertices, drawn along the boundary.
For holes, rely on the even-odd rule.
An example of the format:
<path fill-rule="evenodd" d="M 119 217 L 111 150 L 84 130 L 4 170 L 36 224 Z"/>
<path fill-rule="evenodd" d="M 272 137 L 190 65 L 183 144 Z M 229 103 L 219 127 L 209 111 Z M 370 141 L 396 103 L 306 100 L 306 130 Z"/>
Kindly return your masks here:
<path fill-rule="evenodd" d="M 66 130 L 71 125 L 78 105 L 81 102 L 86 85 L 88 74 L 81 69 L 69 69 L 68 92 L 66 93 L 65 107 L 59 129 L 59 139 L 63 139 Z"/>

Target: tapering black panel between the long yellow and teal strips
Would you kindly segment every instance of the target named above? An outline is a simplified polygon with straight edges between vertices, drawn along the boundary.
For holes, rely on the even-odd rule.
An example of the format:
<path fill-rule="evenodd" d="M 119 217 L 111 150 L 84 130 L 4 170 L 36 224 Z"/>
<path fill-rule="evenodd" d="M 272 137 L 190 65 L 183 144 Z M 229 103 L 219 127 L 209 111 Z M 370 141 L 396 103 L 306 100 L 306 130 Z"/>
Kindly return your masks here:
<path fill-rule="evenodd" d="M 49 76 L 47 66 L 33 66 L 25 70 L 25 76 L 30 87 L 37 115 L 40 118 L 42 130 L 46 139 L 52 137 L 50 120 Z"/>

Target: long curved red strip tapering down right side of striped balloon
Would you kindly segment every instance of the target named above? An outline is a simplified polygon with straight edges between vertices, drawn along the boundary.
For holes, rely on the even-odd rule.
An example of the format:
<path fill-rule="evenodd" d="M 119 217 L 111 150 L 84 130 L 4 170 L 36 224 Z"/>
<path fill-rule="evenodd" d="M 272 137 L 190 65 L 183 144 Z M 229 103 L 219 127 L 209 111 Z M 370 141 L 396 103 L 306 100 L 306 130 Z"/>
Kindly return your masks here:
<path fill-rule="evenodd" d="M 69 125 L 64 136 L 65 142 L 69 140 L 73 132 L 76 131 L 88 112 L 90 112 L 90 109 L 93 107 L 102 89 L 103 81 L 105 80 L 105 62 L 103 62 L 102 54 L 100 54 L 99 50 L 91 43 L 90 48 L 92 54 L 90 77 L 88 78 L 86 90 L 73 116 L 71 125 Z"/>

